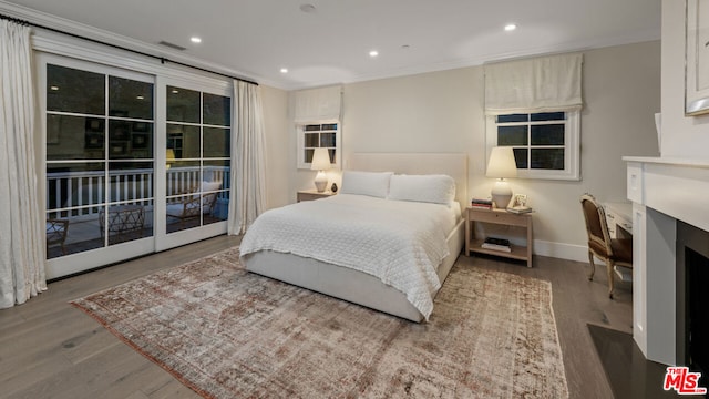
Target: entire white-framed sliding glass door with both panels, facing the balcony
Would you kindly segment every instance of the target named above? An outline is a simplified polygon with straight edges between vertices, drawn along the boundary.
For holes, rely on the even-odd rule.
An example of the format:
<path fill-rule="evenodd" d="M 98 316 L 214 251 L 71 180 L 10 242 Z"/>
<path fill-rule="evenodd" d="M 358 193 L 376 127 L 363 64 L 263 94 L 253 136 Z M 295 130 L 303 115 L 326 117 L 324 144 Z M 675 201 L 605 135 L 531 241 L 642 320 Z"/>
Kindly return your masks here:
<path fill-rule="evenodd" d="M 226 233 L 226 85 L 38 60 L 48 278 Z"/>

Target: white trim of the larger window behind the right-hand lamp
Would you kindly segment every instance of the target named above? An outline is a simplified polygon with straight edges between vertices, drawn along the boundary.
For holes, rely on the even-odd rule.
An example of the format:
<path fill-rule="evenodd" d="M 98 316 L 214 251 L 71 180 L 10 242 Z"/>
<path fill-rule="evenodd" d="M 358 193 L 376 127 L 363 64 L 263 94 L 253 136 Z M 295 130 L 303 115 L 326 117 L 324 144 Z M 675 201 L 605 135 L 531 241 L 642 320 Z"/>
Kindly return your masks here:
<path fill-rule="evenodd" d="M 517 170 L 518 178 L 580 181 L 580 111 L 567 111 L 566 116 L 564 170 Z M 485 116 L 485 154 L 489 156 L 492 147 L 497 146 L 495 115 Z"/>

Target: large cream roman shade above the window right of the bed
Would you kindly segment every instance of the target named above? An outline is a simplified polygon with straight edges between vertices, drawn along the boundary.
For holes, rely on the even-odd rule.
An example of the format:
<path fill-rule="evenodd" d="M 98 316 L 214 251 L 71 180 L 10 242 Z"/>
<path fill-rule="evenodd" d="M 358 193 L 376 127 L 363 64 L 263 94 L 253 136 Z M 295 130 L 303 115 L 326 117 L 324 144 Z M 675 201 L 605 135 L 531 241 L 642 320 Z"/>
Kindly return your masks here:
<path fill-rule="evenodd" d="M 485 65 L 485 114 L 580 110 L 582 65 L 580 53 Z"/>

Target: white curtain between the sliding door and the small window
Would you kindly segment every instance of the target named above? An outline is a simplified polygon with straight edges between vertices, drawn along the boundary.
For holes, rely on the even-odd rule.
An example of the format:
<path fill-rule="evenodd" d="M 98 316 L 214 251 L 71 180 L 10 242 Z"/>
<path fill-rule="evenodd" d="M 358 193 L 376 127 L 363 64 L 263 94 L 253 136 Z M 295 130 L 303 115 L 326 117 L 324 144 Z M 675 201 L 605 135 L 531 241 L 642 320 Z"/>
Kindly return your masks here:
<path fill-rule="evenodd" d="M 264 111 L 260 88 L 234 82 L 236 140 L 232 141 L 232 192 L 228 233 L 246 233 L 266 209 Z"/>

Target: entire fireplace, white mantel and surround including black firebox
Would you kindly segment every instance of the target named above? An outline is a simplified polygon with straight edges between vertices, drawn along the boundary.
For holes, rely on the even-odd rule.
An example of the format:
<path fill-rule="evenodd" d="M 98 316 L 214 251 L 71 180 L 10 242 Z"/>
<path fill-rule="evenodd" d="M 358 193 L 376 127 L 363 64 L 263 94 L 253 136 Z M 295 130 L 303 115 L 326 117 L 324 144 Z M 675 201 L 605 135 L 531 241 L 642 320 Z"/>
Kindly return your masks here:
<path fill-rule="evenodd" d="M 709 160 L 624 160 L 633 202 L 633 338 L 648 360 L 695 364 L 709 372 L 709 361 L 702 360 L 708 358 L 702 345 L 709 341 L 698 340 L 709 335 L 709 315 L 687 305 L 709 304 L 709 297 L 692 298 L 709 291 L 709 212 L 703 201 Z M 699 282 L 699 288 L 687 282 Z"/>

